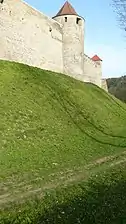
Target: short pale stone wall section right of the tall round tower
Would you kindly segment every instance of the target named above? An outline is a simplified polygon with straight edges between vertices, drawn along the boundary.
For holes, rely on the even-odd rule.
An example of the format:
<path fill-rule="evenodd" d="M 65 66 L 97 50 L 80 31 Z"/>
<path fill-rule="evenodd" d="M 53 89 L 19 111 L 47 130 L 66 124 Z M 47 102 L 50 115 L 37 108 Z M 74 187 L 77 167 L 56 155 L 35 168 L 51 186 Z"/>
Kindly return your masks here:
<path fill-rule="evenodd" d="M 90 57 L 84 55 L 84 80 L 101 87 L 102 69 L 101 63 L 94 62 Z"/>

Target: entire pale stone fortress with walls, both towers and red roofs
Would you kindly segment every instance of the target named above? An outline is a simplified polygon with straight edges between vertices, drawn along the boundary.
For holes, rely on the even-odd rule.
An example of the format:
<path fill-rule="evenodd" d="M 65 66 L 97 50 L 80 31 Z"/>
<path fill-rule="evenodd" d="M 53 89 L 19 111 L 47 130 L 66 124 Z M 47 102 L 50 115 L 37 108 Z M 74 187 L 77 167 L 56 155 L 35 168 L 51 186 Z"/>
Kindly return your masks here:
<path fill-rule="evenodd" d="M 84 54 L 85 20 L 69 2 L 50 18 L 21 0 L 3 0 L 0 30 L 1 59 L 64 73 L 102 87 L 102 60 Z"/>

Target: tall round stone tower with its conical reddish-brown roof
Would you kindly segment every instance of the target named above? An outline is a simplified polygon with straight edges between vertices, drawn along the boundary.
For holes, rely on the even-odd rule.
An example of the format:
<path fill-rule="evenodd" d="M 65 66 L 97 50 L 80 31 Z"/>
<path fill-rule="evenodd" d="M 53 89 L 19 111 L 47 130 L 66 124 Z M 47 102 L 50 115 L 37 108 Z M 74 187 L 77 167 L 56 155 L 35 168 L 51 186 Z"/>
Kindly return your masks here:
<path fill-rule="evenodd" d="M 79 78 L 84 73 L 84 19 L 68 1 L 53 19 L 62 24 L 64 73 Z"/>

